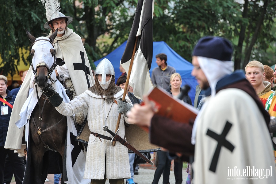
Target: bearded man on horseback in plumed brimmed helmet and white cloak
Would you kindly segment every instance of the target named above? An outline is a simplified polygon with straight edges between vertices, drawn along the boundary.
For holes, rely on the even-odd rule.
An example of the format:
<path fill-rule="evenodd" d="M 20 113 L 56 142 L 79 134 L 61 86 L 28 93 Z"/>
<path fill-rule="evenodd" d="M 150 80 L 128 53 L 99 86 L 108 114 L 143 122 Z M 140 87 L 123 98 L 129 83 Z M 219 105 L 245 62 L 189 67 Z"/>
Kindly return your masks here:
<path fill-rule="evenodd" d="M 56 76 L 61 82 L 65 81 L 65 86 L 73 92 L 72 98 L 74 98 L 95 83 L 82 39 L 67 27 L 73 21 L 72 17 L 65 16 L 59 12 L 59 8 L 53 8 L 48 1 L 41 0 L 41 2 L 46 9 L 48 20 L 44 24 L 44 28 L 51 29 L 48 37 L 58 29 L 57 37 L 53 42 L 56 50 Z M 76 123 L 81 124 L 86 113 L 79 112 L 76 114 Z"/>

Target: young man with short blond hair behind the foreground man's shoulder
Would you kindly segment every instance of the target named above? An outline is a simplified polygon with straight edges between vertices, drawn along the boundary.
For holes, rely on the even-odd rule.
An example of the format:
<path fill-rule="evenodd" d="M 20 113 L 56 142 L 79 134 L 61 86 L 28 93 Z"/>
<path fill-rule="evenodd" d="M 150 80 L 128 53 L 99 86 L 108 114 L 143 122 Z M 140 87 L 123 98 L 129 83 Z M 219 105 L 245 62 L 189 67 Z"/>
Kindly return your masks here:
<path fill-rule="evenodd" d="M 272 99 L 274 91 L 271 90 L 271 83 L 264 80 L 266 74 L 263 64 L 259 61 L 250 61 L 245 67 L 245 77 L 253 86 L 256 94 L 268 111 L 269 105 L 266 106 L 266 102 L 268 99 Z"/>

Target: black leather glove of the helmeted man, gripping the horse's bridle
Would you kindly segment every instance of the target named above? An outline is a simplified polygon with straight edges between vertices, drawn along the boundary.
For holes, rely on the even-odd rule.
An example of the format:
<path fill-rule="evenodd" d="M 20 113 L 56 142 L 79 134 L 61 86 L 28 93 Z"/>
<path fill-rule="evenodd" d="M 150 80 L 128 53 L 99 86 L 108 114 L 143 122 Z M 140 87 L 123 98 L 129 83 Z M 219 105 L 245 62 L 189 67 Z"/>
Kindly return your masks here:
<path fill-rule="evenodd" d="M 55 88 L 49 83 L 46 84 L 45 88 L 41 89 L 41 92 L 48 98 L 54 107 L 59 106 L 63 101 L 59 93 L 57 93 Z"/>

